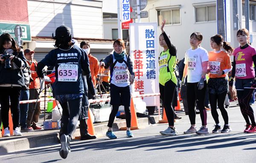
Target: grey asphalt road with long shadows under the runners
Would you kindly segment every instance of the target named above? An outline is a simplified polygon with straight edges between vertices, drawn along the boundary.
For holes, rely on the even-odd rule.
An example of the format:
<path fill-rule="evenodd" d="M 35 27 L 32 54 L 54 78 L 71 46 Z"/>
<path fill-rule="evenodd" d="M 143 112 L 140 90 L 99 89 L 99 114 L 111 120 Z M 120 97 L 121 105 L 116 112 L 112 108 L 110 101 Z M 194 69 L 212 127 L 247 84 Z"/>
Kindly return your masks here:
<path fill-rule="evenodd" d="M 256 106 L 253 106 L 256 108 Z M 219 112 L 219 110 L 218 110 Z M 219 112 L 220 113 L 220 112 Z M 1 163 L 255 163 L 256 133 L 243 133 L 244 119 L 238 107 L 228 109 L 230 133 L 184 135 L 189 128 L 188 116 L 175 123 L 177 136 L 163 136 L 159 131 L 167 124 L 154 124 L 134 130 L 134 138 L 126 138 L 125 131 L 115 132 L 117 139 L 105 136 L 93 141 L 72 141 L 67 159 L 59 156 L 60 145 L 45 146 L 11 155 L 0 156 Z M 219 114 L 221 124 L 223 119 Z M 197 115 L 197 126 L 200 127 Z M 208 112 L 209 132 L 214 128 Z"/>

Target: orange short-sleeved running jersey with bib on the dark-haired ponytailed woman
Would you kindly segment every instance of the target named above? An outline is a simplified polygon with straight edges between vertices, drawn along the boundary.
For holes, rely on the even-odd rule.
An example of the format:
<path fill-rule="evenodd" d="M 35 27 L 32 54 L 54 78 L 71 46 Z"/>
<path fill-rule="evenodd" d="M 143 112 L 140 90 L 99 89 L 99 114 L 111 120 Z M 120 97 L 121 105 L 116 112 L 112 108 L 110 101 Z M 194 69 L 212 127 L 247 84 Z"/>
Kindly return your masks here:
<path fill-rule="evenodd" d="M 209 78 L 226 77 L 227 76 L 226 73 L 224 73 L 221 76 L 218 76 L 217 73 L 219 71 L 231 68 L 230 56 L 224 51 L 221 51 L 219 53 L 210 51 L 208 54 L 209 54 L 208 69 L 210 70 Z"/>

